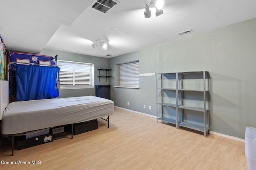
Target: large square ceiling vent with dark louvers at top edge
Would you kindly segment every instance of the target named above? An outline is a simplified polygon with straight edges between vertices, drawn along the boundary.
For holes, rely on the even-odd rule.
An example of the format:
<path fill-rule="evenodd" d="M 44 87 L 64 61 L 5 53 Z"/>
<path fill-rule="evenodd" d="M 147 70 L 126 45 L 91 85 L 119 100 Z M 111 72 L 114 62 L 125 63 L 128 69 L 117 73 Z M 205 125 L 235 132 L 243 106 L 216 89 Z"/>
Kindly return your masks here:
<path fill-rule="evenodd" d="M 116 4 L 117 2 L 113 0 L 97 0 L 95 3 L 92 3 L 92 8 L 100 12 L 106 13 Z"/>

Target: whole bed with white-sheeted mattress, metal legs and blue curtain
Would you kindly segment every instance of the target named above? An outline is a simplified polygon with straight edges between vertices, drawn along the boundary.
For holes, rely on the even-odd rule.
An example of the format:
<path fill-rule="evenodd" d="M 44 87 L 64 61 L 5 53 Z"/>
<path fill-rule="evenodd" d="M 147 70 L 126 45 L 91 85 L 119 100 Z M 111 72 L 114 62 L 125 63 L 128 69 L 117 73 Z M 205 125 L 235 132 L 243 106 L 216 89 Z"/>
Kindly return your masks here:
<path fill-rule="evenodd" d="M 41 131 L 60 125 L 71 125 L 71 138 L 73 139 L 73 124 L 98 118 L 107 121 L 109 127 L 109 116 L 114 113 L 113 101 L 96 96 L 59 98 L 59 68 L 56 63 L 49 63 L 46 66 L 44 63 L 30 64 L 28 62 L 24 64 L 12 61 L 8 67 L 11 69 L 8 71 L 9 77 L 14 78 L 14 80 L 0 81 L 0 120 L 2 137 L 12 137 L 12 155 L 14 154 L 14 136 L 16 135 L 26 135 L 30 131 Z M 28 78 L 28 74 L 31 74 L 31 71 L 34 71 L 31 69 L 34 68 L 43 69 L 44 74 L 46 70 L 52 70 L 52 68 L 55 70 L 50 72 L 50 75 L 44 75 L 45 79 L 54 77 L 53 80 L 50 80 L 52 91 L 49 92 L 48 87 L 45 93 L 38 93 L 44 89 L 42 86 L 40 89 L 30 90 L 34 85 L 33 82 L 30 85 L 21 85 L 23 82 L 34 81 L 33 76 Z M 24 74 L 25 76 L 23 75 L 26 80 L 20 79 L 18 75 L 20 70 L 22 74 L 24 71 L 28 71 Z M 45 83 L 44 80 L 39 82 L 49 85 L 49 82 Z M 14 84 L 18 85 L 13 87 Z M 12 100 L 15 100 L 14 102 L 8 101 L 9 94 L 7 92 L 9 90 Z M 28 93 L 28 95 L 24 93 Z"/>

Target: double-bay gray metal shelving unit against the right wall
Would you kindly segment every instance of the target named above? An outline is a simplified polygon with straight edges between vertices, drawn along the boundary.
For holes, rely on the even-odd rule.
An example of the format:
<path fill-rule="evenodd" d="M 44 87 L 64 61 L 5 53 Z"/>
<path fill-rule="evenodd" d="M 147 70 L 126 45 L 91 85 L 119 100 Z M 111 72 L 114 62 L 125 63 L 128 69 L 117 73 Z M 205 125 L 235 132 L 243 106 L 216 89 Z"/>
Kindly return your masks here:
<path fill-rule="evenodd" d="M 209 72 L 157 74 L 157 122 L 209 133 Z M 170 109 L 172 108 L 172 109 Z M 175 113 L 175 114 L 174 114 Z"/>

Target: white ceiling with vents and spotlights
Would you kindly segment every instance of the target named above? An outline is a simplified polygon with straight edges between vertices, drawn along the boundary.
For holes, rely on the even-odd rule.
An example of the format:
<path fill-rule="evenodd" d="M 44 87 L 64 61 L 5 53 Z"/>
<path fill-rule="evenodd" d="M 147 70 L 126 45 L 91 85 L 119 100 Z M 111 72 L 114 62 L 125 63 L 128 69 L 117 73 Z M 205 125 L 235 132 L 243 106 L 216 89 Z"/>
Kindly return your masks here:
<path fill-rule="evenodd" d="M 150 8 L 148 19 L 144 0 L 118 0 L 107 13 L 91 7 L 96 1 L 0 0 L 0 35 L 6 49 L 114 57 L 256 18 L 256 0 L 165 0 L 164 15 L 156 17 Z M 193 32 L 177 35 L 188 29 Z M 108 41 L 109 47 L 93 48 L 96 39 Z"/>

